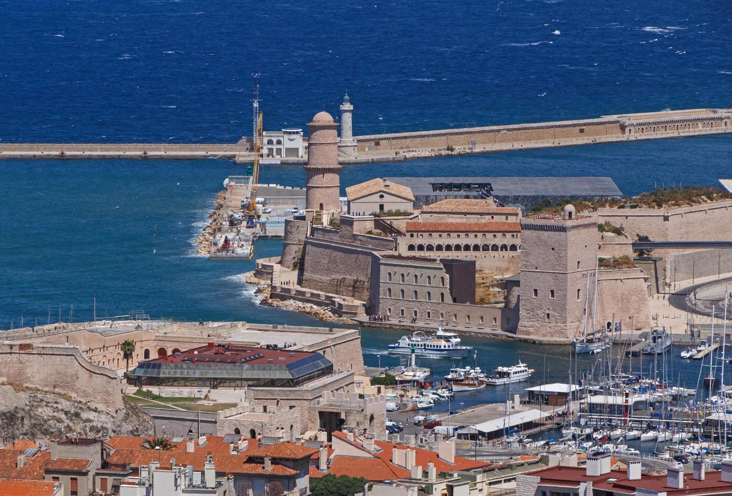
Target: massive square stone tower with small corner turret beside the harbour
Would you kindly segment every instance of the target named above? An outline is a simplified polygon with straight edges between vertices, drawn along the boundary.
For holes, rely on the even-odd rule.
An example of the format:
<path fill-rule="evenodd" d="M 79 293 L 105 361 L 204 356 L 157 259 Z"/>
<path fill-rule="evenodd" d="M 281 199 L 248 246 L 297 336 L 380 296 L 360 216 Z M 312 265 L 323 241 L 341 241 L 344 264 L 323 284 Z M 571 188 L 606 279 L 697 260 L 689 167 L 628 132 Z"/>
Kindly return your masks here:
<path fill-rule="evenodd" d="M 519 335 L 572 338 L 581 332 L 599 243 L 597 220 L 578 218 L 572 205 L 561 216 L 521 219 Z"/>

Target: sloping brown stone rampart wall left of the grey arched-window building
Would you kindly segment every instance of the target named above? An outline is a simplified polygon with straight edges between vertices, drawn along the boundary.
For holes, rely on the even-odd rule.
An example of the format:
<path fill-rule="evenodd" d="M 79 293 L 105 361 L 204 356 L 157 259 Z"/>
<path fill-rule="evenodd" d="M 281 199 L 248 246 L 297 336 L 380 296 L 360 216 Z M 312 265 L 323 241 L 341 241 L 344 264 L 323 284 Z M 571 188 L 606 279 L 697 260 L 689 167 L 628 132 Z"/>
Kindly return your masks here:
<path fill-rule="evenodd" d="M 366 301 L 373 263 L 368 248 L 307 238 L 301 286 Z"/>

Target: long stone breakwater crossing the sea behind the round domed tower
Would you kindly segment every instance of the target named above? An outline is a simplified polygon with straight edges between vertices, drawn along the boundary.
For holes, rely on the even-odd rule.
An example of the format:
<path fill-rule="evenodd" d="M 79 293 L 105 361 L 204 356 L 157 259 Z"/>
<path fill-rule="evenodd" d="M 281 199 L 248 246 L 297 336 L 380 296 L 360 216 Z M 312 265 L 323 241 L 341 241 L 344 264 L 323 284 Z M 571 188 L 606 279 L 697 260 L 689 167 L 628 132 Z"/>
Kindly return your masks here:
<path fill-rule="evenodd" d="M 571 121 L 369 134 L 351 138 L 352 110 L 351 106 L 347 116 L 348 137 L 341 132 L 341 141 L 348 142 L 348 146 L 339 146 L 340 164 L 725 134 L 732 131 L 732 108 L 705 108 L 603 115 L 600 118 Z M 342 121 L 346 122 L 343 116 Z M 225 159 L 234 160 L 237 164 L 250 164 L 254 160 L 251 142 L 250 137 L 244 137 L 236 143 L 0 143 L 0 159 Z M 265 159 L 267 163 L 280 164 L 305 164 L 307 161 L 307 157 L 269 155 Z"/>

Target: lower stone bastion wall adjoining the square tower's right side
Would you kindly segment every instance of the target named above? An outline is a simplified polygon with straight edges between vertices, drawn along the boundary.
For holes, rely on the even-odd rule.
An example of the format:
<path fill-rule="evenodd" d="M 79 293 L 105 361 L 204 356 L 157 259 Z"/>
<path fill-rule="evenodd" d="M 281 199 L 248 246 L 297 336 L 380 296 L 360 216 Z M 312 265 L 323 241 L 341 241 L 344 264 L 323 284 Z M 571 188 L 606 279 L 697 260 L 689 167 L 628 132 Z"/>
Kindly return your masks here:
<path fill-rule="evenodd" d="M 623 330 L 630 330 L 630 316 L 635 329 L 649 329 L 646 272 L 639 268 L 600 270 L 597 298 L 597 325 L 622 319 Z"/>

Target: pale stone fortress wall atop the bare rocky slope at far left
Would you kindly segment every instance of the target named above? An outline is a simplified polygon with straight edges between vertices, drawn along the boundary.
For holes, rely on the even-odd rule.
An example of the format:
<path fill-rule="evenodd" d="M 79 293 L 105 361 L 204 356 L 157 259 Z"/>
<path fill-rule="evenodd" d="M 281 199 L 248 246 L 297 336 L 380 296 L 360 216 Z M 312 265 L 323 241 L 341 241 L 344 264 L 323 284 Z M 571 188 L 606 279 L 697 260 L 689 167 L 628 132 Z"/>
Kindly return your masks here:
<path fill-rule="evenodd" d="M 1 343 L 0 381 L 63 392 L 106 410 L 122 408 L 117 374 L 92 364 L 75 346 Z"/>

